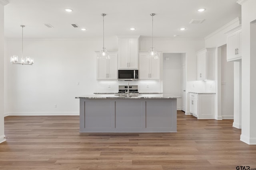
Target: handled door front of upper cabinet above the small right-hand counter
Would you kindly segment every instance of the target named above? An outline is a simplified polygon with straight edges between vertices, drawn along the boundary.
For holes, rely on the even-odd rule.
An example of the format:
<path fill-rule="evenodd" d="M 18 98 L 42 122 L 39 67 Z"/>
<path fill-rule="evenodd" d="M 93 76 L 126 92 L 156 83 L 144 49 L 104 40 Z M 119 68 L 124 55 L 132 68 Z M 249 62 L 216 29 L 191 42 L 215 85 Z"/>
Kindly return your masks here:
<path fill-rule="evenodd" d="M 197 80 L 206 80 L 206 51 L 197 54 Z"/>

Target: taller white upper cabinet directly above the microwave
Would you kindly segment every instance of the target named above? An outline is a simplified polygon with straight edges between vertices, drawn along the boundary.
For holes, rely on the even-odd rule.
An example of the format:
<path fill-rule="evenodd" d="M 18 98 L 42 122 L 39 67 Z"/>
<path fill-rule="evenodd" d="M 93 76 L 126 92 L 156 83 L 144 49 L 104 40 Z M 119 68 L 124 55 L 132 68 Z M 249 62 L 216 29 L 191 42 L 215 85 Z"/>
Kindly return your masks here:
<path fill-rule="evenodd" d="M 118 36 L 118 69 L 138 69 L 139 37 Z"/>

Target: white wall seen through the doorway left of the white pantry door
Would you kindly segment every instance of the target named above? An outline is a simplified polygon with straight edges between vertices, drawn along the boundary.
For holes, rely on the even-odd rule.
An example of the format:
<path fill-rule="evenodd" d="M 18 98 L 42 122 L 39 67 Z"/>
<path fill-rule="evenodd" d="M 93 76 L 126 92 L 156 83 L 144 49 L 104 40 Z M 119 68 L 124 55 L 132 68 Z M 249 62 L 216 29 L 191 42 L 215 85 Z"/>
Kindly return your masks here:
<path fill-rule="evenodd" d="M 163 93 L 182 96 L 182 53 L 163 54 Z M 181 98 L 177 109 L 181 110 Z"/>

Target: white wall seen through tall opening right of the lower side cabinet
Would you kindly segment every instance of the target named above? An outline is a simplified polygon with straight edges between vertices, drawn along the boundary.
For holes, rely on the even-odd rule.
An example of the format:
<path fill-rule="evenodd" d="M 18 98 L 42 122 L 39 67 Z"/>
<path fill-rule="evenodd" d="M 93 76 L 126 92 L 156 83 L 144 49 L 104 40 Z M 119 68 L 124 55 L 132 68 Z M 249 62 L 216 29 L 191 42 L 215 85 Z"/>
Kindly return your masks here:
<path fill-rule="evenodd" d="M 234 62 L 227 62 L 227 46 L 221 50 L 222 119 L 234 118 Z"/>

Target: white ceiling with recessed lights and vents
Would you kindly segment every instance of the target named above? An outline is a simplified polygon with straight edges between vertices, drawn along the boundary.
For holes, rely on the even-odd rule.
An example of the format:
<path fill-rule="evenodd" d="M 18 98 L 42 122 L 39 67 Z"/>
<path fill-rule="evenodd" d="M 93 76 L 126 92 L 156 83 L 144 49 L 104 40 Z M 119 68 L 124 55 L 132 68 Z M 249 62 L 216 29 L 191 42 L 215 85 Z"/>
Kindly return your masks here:
<path fill-rule="evenodd" d="M 241 17 L 237 0 L 9 0 L 4 6 L 4 35 L 9 39 L 91 39 L 116 35 L 203 39 L 226 23 Z M 70 8 L 73 12 L 66 12 Z M 199 8 L 206 8 L 198 12 Z M 192 19 L 204 19 L 200 24 Z M 49 23 L 54 28 L 44 24 Z M 74 28 L 71 24 L 77 24 Z M 136 30 L 131 31 L 134 27 Z M 186 30 L 180 31 L 180 27 Z M 86 28 L 82 31 L 80 28 Z M 173 35 L 178 35 L 174 37 Z"/>

